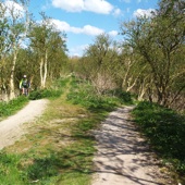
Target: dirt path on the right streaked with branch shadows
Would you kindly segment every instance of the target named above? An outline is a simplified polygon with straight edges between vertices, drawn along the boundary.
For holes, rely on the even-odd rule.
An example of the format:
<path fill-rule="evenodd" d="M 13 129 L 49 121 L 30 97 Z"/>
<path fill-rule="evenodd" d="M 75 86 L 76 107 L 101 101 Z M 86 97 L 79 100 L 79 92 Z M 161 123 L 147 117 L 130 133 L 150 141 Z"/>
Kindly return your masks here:
<path fill-rule="evenodd" d="M 96 132 L 98 152 L 92 185 L 170 184 L 130 120 L 132 107 L 112 112 Z"/>

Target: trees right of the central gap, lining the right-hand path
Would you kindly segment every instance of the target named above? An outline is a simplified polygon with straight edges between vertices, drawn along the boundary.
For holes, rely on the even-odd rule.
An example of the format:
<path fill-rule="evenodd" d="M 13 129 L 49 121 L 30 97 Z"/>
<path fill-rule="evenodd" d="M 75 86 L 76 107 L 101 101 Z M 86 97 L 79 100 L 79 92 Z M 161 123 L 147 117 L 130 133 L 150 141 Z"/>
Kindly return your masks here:
<path fill-rule="evenodd" d="M 98 36 L 75 63 L 98 94 L 123 89 L 159 104 L 185 108 L 185 2 L 161 0 L 150 16 L 121 24 L 122 40 Z"/>

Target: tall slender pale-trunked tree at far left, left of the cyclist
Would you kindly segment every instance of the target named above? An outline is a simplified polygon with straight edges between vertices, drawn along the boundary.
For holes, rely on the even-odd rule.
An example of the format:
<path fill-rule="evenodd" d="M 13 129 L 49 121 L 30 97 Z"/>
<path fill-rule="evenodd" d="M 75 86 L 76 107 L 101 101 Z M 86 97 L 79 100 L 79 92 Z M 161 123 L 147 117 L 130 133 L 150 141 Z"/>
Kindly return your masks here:
<path fill-rule="evenodd" d="M 16 9 L 18 7 L 18 9 Z M 21 1 L 7 1 L 0 4 L 2 12 L 1 15 L 1 61 L 10 59 L 10 76 L 9 78 L 9 91 L 10 99 L 15 97 L 14 94 L 14 72 L 16 66 L 16 58 L 18 49 L 26 38 L 26 32 L 28 30 L 28 12 L 27 12 L 27 0 Z M 1 65 L 3 67 L 3 65 Z M 3 79 L 4 81 L 4 79 Z"/>

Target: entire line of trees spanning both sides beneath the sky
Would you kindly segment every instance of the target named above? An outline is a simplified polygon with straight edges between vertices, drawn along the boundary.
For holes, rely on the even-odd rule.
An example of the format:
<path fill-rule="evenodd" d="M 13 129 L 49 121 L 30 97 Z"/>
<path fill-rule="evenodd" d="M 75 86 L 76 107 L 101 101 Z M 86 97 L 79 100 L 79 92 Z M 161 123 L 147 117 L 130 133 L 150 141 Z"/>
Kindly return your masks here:
<path fill-rule="evenodd" d="M 120 41 L 99 35 L 82 58 L 71 59 L 66 35 L 54 29 L 50 17 L 40 13 L 38 23 L 28 12 L 27 0 L 12 2 L 20 4 L 20 11 L 0 3 L 0 95 L 14 98 L 23 74 L 33 89 L 45 88 L 67 65 L 92 83 L 99 95 L 124 90 L 138 100 L 185 108 L 184 0 L 161 0 L 150 16 L 122 22 Z"/>

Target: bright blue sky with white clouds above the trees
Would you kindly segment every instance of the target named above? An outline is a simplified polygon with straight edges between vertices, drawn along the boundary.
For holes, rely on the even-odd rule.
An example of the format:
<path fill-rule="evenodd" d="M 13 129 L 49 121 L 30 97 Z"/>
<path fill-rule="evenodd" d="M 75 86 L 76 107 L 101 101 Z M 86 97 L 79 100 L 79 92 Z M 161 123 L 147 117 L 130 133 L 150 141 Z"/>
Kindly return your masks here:
<path fill-rule="evenodd" d="M 66 34 L 67 54 L 81 57 L 98 35 L 106 33 L 121 40 L 122 22 L 149 15 L 157 7 L 158 0 L 29 0 L 28 9 L 35 21 L 40 21 L 40 12 L 51 17 Z"/>

